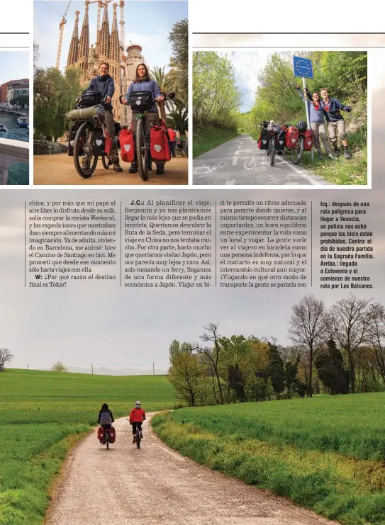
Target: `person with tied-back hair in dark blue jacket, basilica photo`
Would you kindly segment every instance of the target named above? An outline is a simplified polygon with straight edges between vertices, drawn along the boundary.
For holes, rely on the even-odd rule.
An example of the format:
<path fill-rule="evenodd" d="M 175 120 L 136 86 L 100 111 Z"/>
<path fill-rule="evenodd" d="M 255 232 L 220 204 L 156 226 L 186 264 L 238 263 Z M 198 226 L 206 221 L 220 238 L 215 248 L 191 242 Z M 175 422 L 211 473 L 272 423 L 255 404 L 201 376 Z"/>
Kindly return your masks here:
<path fill-rule="evenodd" d="M 113 94 L 115 93 L 115 84 L 113 83 L 113 78 L 108 74 L 110 69 L 107 62 L 101 62 L 99 68 L 99 75 L 91 80 L 87 89 L 95 89 L 99 91 L 102 97 L 106 97 L 106 102 L 104 103 L 104 109 L 106 110 L 106 128 L 110 134 L 112 146 L 108 159 L 113 164 L 113 169 L 115 171 L 123 171 L 121 165 L 119 164 L 119 155 L 118 155 L 118 145 L 116 144 L 115 138 L 115 126 L 113 123 L 113 114 L 112 114 L 112 104 L 111 100 Z"/>

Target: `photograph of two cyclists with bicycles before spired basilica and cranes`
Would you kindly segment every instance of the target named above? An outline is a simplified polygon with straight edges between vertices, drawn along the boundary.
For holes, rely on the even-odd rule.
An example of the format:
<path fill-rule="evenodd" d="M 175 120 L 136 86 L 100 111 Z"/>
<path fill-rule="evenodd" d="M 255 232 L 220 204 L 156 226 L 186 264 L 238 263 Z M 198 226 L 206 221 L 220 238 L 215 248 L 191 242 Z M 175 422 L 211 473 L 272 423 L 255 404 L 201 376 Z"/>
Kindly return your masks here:
<path fill-rule="evenodd" d="M 111 1 L 34 2 L 34 184 L 188 184 L 188 3 Z"/>

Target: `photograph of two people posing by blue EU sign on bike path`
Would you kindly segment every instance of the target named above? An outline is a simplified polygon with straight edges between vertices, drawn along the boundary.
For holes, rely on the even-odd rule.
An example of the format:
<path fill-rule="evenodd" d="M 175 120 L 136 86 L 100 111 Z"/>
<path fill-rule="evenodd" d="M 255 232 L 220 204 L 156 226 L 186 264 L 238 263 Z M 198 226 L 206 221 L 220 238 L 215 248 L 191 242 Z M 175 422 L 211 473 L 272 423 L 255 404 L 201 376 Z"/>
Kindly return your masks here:
<path fill-rule="evenodd" d="M 196 185 L 366 186 L 366 51 L 193 55 Z"/>

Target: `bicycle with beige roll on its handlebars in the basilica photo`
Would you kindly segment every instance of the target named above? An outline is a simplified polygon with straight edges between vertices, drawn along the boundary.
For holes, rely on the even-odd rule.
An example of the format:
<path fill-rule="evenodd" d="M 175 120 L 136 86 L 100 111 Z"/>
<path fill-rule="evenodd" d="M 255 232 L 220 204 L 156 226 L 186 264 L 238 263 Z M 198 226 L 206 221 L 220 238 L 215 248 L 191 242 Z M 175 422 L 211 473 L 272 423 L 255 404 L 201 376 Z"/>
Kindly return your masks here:
<path fill-rule="evenodd" d="M 104 123 L 105 102 L 99 91 L 87 89 L 77 98 L 75 108 L 67 113 L 68 120 L 72 120 L 68 154 L 74 157 L 74 166 L 84 179 L 94 173 L 99 157 L 104 169 L 112 164 L 108 160 L 112 139 Z"/>

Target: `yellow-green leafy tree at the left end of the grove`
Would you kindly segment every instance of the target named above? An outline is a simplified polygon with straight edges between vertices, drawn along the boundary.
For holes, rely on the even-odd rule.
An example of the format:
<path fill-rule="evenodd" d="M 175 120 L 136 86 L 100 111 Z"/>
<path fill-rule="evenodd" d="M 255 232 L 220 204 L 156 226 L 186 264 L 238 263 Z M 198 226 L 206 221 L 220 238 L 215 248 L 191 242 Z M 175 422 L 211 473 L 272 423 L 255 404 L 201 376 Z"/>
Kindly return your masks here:
<path fill-rule="evenodd" d="M 179 396 L 186 400 L 189 406 L 194 407 L 203 376 L 205 376 L 205 367 L 199 363 L 198 356 L 188 351 L 181 351 L 173 359 L 168 378 Z"/>

